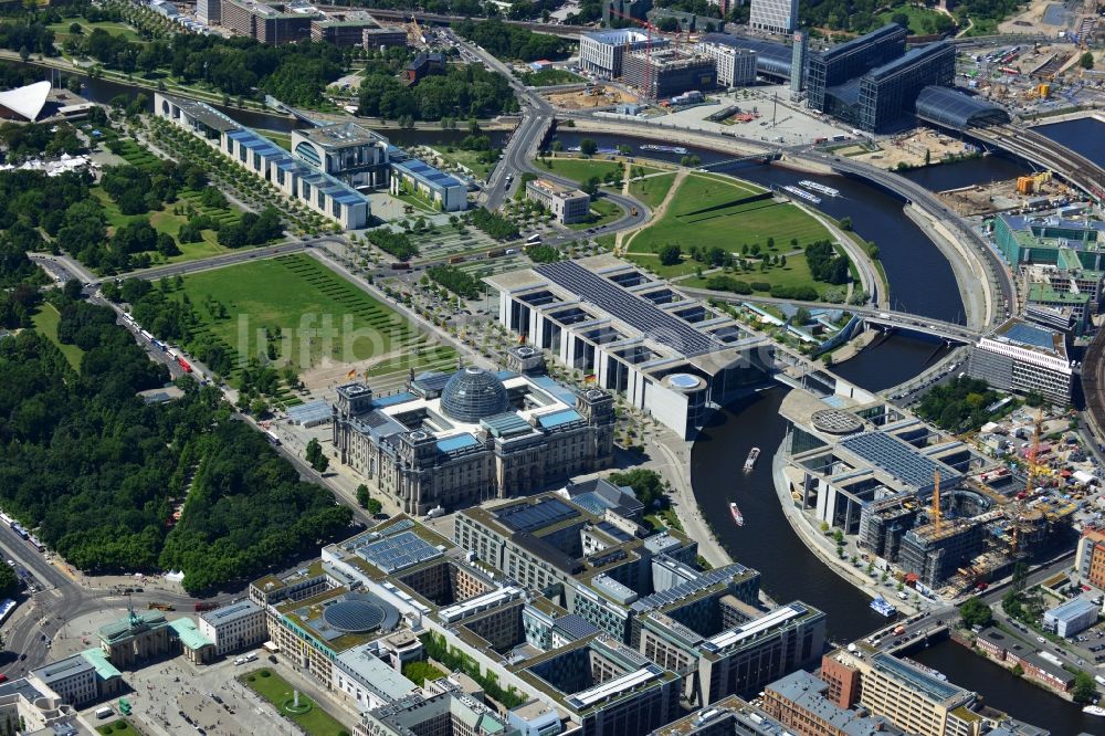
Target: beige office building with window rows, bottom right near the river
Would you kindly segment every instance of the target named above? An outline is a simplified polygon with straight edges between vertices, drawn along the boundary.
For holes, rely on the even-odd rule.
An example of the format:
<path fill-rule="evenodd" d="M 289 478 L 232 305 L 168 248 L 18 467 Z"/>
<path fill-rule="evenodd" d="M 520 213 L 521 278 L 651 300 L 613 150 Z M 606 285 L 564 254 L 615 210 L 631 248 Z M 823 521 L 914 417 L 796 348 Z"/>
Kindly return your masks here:
<path fill-rule="evenodd" d="M 856 693 L 851 686 L 833 683 L 852 673 L 859 675 L 857 701 L 853 700 Z M 976 693 L 890 654 L 857 656 L 838 650 L 823 658 L 821 677 L 829 682 L 830 695 L 848 694 L 848 702 L 836 702 L 840 707 L 850 708 L 859 702 L 872 715 L 890 718 L 909 734 L 976 736 L 979 733 L 981 718 L 969 709 L 978 700 Z"/>

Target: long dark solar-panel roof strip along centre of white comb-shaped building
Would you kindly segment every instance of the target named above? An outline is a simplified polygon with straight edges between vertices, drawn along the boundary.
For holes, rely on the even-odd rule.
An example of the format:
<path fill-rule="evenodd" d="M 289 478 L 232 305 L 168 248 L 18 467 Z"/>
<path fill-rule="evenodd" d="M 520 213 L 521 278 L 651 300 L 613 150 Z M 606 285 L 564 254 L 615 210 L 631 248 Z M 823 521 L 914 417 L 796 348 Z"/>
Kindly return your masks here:
<path fill-rule="evenodd" d="M 545 263 L 536 266 L 535 271 L 683 356 L 713 353 L 725 347 L 686 322 L 657 308 L 652 302 L 591 273 L 575 261 Z"/>

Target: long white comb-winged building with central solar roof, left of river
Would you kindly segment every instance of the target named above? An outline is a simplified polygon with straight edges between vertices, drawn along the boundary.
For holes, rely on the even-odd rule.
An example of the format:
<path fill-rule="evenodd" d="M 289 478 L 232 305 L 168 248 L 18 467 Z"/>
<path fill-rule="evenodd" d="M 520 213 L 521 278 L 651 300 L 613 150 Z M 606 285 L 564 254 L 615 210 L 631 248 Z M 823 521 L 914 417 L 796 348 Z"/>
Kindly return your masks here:
<path fill-rule="evenodd" d="M 770 344 L 724 313 L 611 255 L 484 280 L 499 323 L 684 439 L 764 380 Z"/>

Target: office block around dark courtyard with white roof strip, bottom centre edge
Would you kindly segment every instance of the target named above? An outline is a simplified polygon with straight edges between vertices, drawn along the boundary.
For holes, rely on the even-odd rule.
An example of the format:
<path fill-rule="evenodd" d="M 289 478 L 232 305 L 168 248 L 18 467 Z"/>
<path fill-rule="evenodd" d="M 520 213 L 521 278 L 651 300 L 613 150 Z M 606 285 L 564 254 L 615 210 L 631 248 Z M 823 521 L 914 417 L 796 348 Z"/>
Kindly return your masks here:
<path fill-rule="evenodd" d="M 675 673 L 602 634 L 534 658 L 516 674 L 579 736 L 644 734 L 680 713 Z"/>

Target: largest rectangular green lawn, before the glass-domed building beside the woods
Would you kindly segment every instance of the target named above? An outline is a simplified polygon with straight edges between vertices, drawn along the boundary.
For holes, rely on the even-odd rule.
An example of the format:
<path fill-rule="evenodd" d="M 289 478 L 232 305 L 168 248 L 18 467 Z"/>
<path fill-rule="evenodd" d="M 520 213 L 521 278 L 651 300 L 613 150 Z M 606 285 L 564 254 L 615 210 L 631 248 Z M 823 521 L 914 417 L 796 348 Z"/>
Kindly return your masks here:
<path fill-rule="evenodd" d="M 283 329 L 290 355 L 281 357 L 298 370 L 324 357 L 339 362 L 391 351 L 407 357 L 425 343 L 412 323 L 303 254 L 194 273 L 172 292 L 177 298 L 182 294 L 197 306 L 209 335 L 232 355 L 256 355 L 266 341 L 265 329 L 273 335 Z M 225 317 L 215 319 L 203 308 L 211 299 L 225 307 Z"/>

